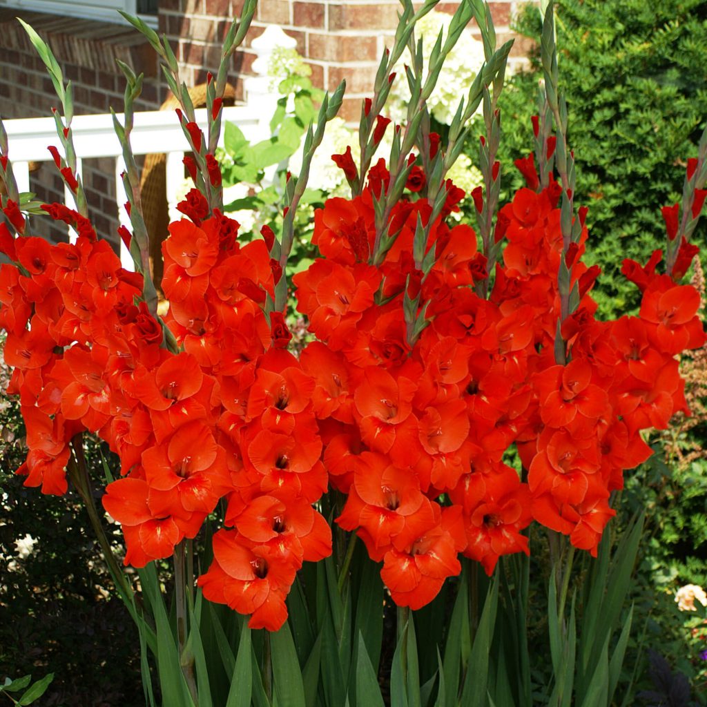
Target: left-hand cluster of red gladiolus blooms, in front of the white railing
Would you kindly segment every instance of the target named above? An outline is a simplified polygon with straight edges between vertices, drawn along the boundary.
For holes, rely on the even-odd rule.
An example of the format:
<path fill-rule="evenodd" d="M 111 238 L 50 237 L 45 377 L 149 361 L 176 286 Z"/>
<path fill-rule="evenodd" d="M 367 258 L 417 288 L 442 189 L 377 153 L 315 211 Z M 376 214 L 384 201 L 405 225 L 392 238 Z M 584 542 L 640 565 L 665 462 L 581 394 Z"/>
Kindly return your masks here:
<path fill-rule="evenodd" d="M 197 194 L 182 209 L 194 221 L 173 223 L 163 248 L 178 353 L 145 303 L 134 305 L 142 277 L 76 212 L 47 207 L 78 230 L 75 244 L 13 239 L 0 226 L 0 250 L 15 262 L 0 268 L 9 392 L 20 395 L 30 448 L 18 473 L 64 493 L 71 439 L 97 432 L 123 475 L 103 505 L 137 567 L 195 537 L 226 497 L 231 529 L 214 536 L 199 583 L 207 598 L 252 614 L 254 628 L 275 630 L 302 562 L 331 552 L 312 508 L 327 490 L 314 382 L 284 348 L 282 315 L 268 322 L 262 309 L 281 276 L 264 240 L 241 246 L 235 221 L 201 221 Z"/>

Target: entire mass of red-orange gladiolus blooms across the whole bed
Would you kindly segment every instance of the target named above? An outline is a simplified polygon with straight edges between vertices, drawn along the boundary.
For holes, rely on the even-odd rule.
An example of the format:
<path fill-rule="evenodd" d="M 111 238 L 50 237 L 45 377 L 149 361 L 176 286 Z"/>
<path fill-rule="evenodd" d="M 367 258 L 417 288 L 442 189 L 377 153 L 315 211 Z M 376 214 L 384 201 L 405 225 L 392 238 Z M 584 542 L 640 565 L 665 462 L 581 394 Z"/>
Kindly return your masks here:
<path fill-rule="evenodd" d="M 337 163 L 350 170 L 350 153 Z M 448 223 L 464 196 L 451 182 L 428 224 L 428 201 L 415 197 L 426 175 L 411 171 L 380 265 L 373 195 L 389 179 L 385 163 L 361 196 L 329 199 L 315 214 L 322 258 L 294 277 L 317 338 L 299 359 L 286 350 L 283 314 L 265 314 L 283 276 L 267 227 L 241 245 L 238 223 L 207 218 L 191 192 L 181 204 L 189 220 L 171 224 L 163 246 L 170 308 L 160 323 L 140 301 L 141 276 L 86 218 L 46 206 L 78 233 L 50 245 L 23 235 L 9 203 L 18 237 L 0 224 L 0 252 L 13 261 L 0 267 L 0 326 L 30 449 L 18 473 L 64 493 L 71 440 L 98 433 L 122 473 L 103 503 L 122 524 L 125 562 L 138 567 L 194 538 L 223 498 L 227 529 L 199 585 L 251 614 L 254 628 L 278 629 L 298 568 L 330 553 L 331 530 L 313 508 L 329 484 L 346 495 L 339 525 L 413 609 L 460 572 L 460 552 L 489 574 L 500 556 L 528 553 L 532 520 L 596 554 L 614 515 L 609 494 L 650 455 L 641 431 L 686 411 L 675 356 L 704 334 L 698 294 L 673 278 L 694 249 L 683 244 L 672 277 L 655 271 L 660 252 L 645 267 L 626 262 L 640 314 L 597 321 L 588 293 L 598 269 L 580 262 L 586 230 L 563 250 L 561 187 L 538 192 L 532 162 L 522 168 L 535 188 L 498 215 L 495 237 L 507 245 L 489 298 L 474 230 Z M 426 273 L 413 255 L 419 222 L 434 254 Z M 562 258 L 579 298 L 556 346 Z M 413 317 L 426 317 L 419 337 L 410 301 Z M 521 473 L 504 462 L 513 447 Z"/>

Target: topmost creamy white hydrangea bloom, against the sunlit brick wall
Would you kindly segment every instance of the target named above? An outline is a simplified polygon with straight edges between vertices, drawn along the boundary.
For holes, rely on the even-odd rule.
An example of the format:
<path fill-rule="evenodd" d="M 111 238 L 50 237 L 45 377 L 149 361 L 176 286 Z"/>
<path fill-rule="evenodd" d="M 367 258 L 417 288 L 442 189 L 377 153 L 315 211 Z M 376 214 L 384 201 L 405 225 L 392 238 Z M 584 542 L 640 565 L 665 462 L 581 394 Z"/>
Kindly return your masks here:
<path fill-rule="evenodd" d="M 422 37 L 423 57 L 429 57 L 435 45 L 440 29 L 444 29 L 443 41 L 447 37 L 452 16 L 443 12 L 431 11 L 415 25 L 415 36 Z M 397 76 L 390 90 L 387 110 L 395 122 L 407 117 L 407 105 L 410 101 L 410 89 L 405 75 L 405 64 L 411 63 L 409 49 L 405 49 L 393 68 Z M 471 86 L 481 64 L 484 63 L 484 45 L 472 37 L 469 27 L 462 32 L 459 41 L 445 59 L 437 85 L 427 101 L 433 117 L 440 123 L 450 124 L 462 98 L 460 86 Z M 424 68 L 426 76 L 427 66 Z"/>

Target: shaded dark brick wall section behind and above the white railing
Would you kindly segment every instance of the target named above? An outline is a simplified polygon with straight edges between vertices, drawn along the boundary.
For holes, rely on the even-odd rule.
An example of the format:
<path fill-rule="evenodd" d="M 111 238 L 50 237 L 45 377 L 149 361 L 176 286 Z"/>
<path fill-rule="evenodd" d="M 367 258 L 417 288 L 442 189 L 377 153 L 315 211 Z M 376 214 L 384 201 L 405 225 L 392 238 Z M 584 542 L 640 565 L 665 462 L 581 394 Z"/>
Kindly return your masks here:
<path fill-rule="evenodd" d="M 112 106 L 122 110 L 124 78 L 115 59 L 144 71 L 146 80 L 136 110 L 155 110 L 165 90 L 156 81 L 156 61 L 151 47 L 129 27 L 59 18 L 44 13 L 0 11 L 0 115 L 4 119 L 47 117 L 57 98 L 44 64 L 30 44 L 16 16 L 28 21 L 49 42 L 62 66 L 64 77 L 74 86 L 74 113 L 105 113 Z M 59 144 L 58 139 L 54 144 Z M 10 146 L 12 150 L 12 146 Z M 10 153 L 12 158 L 12 152 Z M 62 179 L 53 162 L 39 163 L 30 174 L 30 189 L 42 201 L 64 201 Z M 115 161 L 83 162 L 83 184 L 90 217 L 100 235 L 117 244 Z M 53 240 L 64 240 L 66 230 L 49 217 L 33 217 L 33 232 Z"/>

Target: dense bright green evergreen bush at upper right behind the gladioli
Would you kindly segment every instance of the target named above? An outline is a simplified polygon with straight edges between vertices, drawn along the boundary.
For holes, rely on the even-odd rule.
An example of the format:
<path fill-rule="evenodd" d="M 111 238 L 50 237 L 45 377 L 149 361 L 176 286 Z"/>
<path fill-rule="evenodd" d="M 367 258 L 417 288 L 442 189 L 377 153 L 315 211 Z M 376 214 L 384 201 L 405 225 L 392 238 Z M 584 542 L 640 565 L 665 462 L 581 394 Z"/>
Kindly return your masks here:
<path fill-rule="evenodd" d="M 602 315 L 614 317 L 637 304 L 636 289 L 619 274 L 621 260 L 645 260 L 662 247 L 660 206 L 678 200 L 686 159 L 697 153 L 707 117 L 707 2 L 559 0 L 556 13 L 575 204 L 589 206 L 587 261 L 604 264 L 597 300 Z M 537 8 L 527 6 L 517 25 L 538 40 Z M 501 96 L 499 159 L 508 188 L 522 183 L 513 160 L 530 152 L 540 78 L 535 56 Z M 477 145 L 469 141 L 474 154 Z M 699 229 L 696 243 L 704 238 Z"/>

